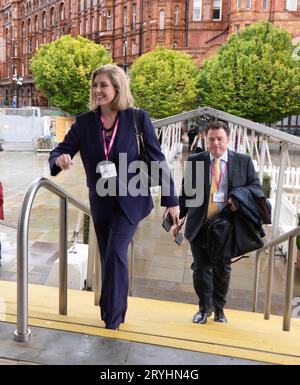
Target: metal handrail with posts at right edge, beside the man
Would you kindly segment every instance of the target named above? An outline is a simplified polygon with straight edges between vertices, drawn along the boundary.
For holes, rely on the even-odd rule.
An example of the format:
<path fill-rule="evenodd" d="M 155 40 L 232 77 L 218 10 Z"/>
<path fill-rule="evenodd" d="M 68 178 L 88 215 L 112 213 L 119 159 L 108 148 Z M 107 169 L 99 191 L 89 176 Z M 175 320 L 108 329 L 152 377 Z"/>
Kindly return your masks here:
<path fill-rule="evenodd" d="M 257 311 L 257 297 L 258 297 L 258 276 L 260 256 L 263 251 L 268 250 L 268 278 L 267 278 L 267 290 L 265 294 L 265 307 L 264 318 L 270 318 L 271 312 L 271 297 L 272 297 L 272 282 L 274 271 L 274 248 L 275 246 L 288 241 L 288 256 L 287 256 L 287 268 L 286 268 L 286 286 L 285 286 L 285 300 L 284 300 L 284 313 L 283 313 L 283 327 L 282 330 L 289 331 L 291 327 L 291 304 L 293 296 L 293 282 L 294 282 L 294 255 L 295 255 L 295 243 L 296 237 L 300 235 L 300 226 L 286 232 L 277 239 L 273 239 L 265 244 L 261 249 L 256 250 L 255 255 L 255 277 L 254 277 L 254 290 L 253 290 L 253 311 Z"/>

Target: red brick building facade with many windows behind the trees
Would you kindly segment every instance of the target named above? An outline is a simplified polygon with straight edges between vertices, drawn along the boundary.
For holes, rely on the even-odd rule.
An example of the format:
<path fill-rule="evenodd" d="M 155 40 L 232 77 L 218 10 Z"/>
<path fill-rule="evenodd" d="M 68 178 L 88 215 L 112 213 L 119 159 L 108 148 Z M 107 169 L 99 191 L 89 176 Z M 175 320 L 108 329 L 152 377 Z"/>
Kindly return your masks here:
<path fill-rule="evenodd" d="M 127 69 L 157 45 L 200 63 L 228 35 L 261 19 L 300 38 L 300 0 L 0 0 L 0 105 L 47 104 L 29 60 L 41 44 L 65 34 L 103 44 Z"/>

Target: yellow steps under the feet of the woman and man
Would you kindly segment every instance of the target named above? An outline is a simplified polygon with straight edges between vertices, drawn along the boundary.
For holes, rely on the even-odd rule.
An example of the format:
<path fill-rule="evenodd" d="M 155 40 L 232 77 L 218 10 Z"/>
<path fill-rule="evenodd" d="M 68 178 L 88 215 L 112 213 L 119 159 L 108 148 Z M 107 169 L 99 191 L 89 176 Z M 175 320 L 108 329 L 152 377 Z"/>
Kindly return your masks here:
<path fill-rule="evenodd" d="M 0 321 L 16 322 L 16 284 L 0 281 Z M 68 315 L 58 315 L 58 289 L 29 285 L 29 324 L 274 364 L 300 364 L 300 319 L 282 331 L 282 317 L 226 309 L 228 324 L 192 323 L 196 305 L 129 297 L 120 331 L 104 328 L 92 292 L 68 290 Z M 34 335 L 32 336 L 32 341 Z"/>

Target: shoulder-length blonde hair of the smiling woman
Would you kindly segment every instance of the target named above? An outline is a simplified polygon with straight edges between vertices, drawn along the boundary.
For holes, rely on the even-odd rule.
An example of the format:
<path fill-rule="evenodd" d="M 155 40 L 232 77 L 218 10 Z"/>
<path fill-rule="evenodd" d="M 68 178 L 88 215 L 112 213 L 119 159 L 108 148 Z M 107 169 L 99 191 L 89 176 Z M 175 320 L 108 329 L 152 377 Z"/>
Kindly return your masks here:
<path fill-rule="evenodd" d="M 93 96 L 93 84 L 97 75 L 104 74 L 111 81 L 116 96 L 112 101 L 112 109 L 115 111 L 126 110 L 126 108 L 133 107 L 134 99 L 129 89 L 129 82 L 125 72 L 115 64 L 105 64 L 97 68 L 92 73 L 91 90 L 90 90 L 90 109 L 96 110 L 98 104 Z"/>

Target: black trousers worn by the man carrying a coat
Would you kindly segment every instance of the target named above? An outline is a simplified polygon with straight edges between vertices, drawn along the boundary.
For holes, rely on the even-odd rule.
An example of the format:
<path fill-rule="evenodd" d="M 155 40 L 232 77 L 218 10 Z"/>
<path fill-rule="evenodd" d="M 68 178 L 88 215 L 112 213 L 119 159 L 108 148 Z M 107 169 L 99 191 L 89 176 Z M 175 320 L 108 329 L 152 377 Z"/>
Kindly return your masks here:
<path fill-rule="evenodd" d="M 201 311 L 210 312 L 223 310 L 229 288 L 231 266 L 209 263 L 205 249 L 202 246 L 205 230 L 200 230 L 196 239 L 190 243 L 193 254 L 193 284 L 199 298 Z"/>

